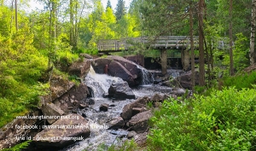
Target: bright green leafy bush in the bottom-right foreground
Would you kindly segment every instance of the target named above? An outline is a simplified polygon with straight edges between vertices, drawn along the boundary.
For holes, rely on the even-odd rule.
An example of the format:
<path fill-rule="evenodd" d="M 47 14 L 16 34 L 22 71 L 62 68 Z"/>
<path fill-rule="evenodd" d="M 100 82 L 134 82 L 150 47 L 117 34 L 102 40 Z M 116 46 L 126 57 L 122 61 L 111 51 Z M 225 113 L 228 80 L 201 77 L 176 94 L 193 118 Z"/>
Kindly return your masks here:
<path fill-rule="evenodd" d="M 213 90 L 178 103 L 170 98 L 151 119 L 150 150 L 254 150 L 256 90 Z"/>

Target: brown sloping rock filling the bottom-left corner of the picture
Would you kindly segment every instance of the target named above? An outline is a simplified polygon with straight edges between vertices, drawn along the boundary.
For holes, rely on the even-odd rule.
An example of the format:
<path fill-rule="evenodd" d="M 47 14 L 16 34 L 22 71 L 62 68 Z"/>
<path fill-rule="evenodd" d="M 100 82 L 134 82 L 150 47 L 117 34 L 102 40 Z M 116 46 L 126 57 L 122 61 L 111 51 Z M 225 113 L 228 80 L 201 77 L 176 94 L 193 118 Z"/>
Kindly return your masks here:
<path fill-rule="evenodd" d="M 14 119 L 7 125 L 4 125 L 0 129 L 0 150 L 3 148 L 10 148 L 20 142 L 24 142 L 28 137 L 36 135 L 37 131 L 40 131 L 40 124 L 44 124 L 43 120 L 39 119 L 42 113 L 36 110 L 32 113 L 28 113 L 25 116 L 38 117 L 34 119 Z M 31 126 L 31 128 L 20 128 L 20 126 Z M 24 140 L 23 140 L 24 139 Z"/>

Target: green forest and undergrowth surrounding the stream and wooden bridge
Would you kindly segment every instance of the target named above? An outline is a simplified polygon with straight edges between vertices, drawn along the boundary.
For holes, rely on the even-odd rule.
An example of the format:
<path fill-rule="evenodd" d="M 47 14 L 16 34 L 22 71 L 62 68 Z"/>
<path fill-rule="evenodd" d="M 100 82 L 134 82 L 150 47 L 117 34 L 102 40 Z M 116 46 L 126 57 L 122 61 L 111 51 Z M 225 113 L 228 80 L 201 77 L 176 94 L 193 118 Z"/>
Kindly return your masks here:
<path fill-rule="evenodd" d="M 187 51 L 194 96 L 154 111 L 143 149 L 255 150 L 256 0 L 133 0 L 128 8 L 118 0 L 115 9 L 109 0 L 106 8 L 101 0 L 38 3 L 44 9 L 28 13 L 28 0 L 0 0 L 0 127 L 37 107 L 53 74 L 78 82 L 62 69 L 81 53 L 98 55 L 101 39 L 189 36 L 199 38 Z M 142 45 L 128 53 L 148 54 Z M 109 150 L 142 149 L 125 145 Z"/>

